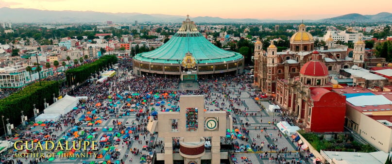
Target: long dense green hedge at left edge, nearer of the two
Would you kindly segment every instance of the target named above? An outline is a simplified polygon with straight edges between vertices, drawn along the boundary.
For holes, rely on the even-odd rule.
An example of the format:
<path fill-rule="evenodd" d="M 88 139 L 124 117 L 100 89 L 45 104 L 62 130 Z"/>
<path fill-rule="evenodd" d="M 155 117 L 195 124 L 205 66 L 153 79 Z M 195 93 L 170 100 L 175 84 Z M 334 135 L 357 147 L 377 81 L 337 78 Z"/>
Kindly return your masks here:
<path fill-rule="evenodd" d="M 53 94 L 56 97 L 59 94 L 58 82 L 35 82 L 7 98 L 0 99 L 0 116 L 4 115 L 4 119 L 9 118 L 10 123 L 17 126 L 22 121 L 21 111 L 24 115 L 32 117 L 34 115 L 33 104 L 37 109 L 44 109 L 44 98 L 46 98 L 46 102 L 53 103 Z M 1 124 L 2 122 L 0 122 L 0 128 L 3 128 Z"/>

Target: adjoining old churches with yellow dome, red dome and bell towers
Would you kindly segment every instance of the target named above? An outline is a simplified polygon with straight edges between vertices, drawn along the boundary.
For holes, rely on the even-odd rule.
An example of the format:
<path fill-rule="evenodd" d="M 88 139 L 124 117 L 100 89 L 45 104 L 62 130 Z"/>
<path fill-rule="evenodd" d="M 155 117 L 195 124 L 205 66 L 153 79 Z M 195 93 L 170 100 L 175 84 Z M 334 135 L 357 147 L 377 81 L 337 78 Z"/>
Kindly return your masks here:
<path fill-rule="evenodd" d="M 290 38 L 290 49 L 277 52 L 273 42 L 267 51 L 262 47 L 257 39 L 254 74 L 261 91 L 307 131 L 343 131 L 345 96 L 331 91 L 329 74 L 353 65 L 363 67 L 365 43 L 359 40 L 354 44 L 352 58 L 347 47 L 334 45 L 331 36 L 326 47 L 316 51 L 313 36 L 301 24 Z"/>

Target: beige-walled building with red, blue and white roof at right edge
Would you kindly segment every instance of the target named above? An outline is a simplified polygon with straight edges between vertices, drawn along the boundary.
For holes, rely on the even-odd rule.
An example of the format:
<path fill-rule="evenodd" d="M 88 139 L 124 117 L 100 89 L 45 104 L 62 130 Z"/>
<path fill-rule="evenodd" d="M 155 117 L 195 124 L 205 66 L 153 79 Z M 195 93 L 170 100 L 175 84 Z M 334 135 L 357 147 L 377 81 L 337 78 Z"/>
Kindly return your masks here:
<path fill-rule="evenodd" d="M 384 152 L 392 148 L 391 87 L 375 89 L 338 85 L 334 92 L 346 96 L 345 127 Z"/>

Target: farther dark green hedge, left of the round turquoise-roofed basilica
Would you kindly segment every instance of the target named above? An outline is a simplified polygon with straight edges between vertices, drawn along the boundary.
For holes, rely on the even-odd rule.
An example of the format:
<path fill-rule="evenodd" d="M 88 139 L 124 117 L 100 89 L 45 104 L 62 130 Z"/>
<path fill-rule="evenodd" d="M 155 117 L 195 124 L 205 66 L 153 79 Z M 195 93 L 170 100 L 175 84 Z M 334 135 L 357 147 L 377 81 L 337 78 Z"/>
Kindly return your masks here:
<path fill-rule="evenodd" d="M 109 64 L 117 63 L 116 55 L 104 55 L 99 60 L 78 66 L 76 68 L 68 69 L 66 71 L 67 84 L 73 85 L 76 83 L 82 83 L 91 76 L 91 74 L 102 70 L 103 67 L 109 66 Z"/>

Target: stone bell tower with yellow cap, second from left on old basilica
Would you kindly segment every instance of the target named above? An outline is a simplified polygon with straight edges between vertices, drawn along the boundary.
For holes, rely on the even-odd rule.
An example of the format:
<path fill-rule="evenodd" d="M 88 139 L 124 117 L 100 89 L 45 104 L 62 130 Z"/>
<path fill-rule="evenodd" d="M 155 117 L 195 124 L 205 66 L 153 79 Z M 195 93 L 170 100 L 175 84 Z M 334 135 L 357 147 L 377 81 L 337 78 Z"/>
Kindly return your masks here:
<path fill-rule="evenodd" d="M 277 66 L 278 66 L 278 56 L 277 48 L 273 45 L 273 40 L 271 45 L 267 48 L 267 80 L 266 80 L 266 92 L 268 95 L 275 94 L 276 78 L 277 78 Z"/>

